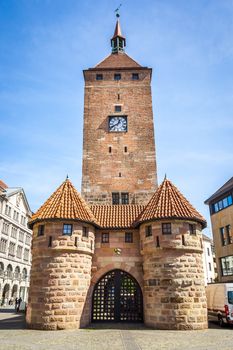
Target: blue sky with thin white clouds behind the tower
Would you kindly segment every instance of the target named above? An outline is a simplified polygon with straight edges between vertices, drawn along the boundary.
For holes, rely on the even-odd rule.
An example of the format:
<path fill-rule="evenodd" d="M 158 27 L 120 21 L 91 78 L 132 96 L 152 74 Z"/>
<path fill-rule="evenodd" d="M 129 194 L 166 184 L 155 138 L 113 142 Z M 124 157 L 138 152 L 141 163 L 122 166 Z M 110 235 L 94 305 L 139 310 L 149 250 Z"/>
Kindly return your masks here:
<path fill-rule="evenodd" d="M 32 210 L 67 173 L 80 190 L 82 70 L 110 53 L 120 2 L 126 52 L 153 68 L 159 183 L 209 222 L 233 175 L 232 0 L 0 0 L 0 178 Z"/>

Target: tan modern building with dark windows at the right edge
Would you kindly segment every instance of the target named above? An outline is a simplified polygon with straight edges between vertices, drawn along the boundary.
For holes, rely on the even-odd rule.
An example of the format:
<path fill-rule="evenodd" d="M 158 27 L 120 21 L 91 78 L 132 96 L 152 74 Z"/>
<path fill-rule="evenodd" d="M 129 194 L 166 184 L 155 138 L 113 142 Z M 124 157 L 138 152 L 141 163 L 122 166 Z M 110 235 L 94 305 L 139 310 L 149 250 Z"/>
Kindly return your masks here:
<path fill-rule="evenodd" d="M 233 177 L 205 201 L 209 205 L 218 279 L 233 281 Z"/>

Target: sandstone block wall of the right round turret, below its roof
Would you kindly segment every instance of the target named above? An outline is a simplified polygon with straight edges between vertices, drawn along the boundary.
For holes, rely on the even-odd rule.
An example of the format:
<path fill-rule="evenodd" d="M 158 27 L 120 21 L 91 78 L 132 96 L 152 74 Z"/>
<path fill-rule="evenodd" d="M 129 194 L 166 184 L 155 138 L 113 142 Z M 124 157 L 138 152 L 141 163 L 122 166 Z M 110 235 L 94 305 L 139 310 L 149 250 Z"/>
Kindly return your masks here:
<path fill-rule="evenodd" d="M 188 222 L 176 221 L 172 234 L 162 235 L 161 222 L 151 225 L 153 235 L 147 238 L 146 225 L 140 227 L 145 324 L 159 329 L 207 328 L 201 228 L 191 236 Z"/>

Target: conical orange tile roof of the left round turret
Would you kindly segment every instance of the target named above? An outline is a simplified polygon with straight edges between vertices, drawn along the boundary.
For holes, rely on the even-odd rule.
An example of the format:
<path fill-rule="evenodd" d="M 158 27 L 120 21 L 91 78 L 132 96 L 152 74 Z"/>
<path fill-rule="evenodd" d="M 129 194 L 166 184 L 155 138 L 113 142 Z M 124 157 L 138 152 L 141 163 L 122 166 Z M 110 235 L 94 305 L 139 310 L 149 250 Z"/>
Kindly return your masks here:
<path fill-rule="evenodd" d="M 90 208 L 68 178 L 32 216 L 30 223 L 44 219 L 80 220 L 97 224 Z"/>

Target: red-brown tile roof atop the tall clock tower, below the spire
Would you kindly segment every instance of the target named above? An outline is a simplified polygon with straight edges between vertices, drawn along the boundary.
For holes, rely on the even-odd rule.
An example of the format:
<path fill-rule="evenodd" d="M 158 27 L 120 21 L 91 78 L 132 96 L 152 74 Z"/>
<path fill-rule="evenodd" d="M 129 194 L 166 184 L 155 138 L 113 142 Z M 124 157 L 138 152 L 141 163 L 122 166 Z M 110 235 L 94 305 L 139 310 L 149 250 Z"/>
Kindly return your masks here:
<path fill-rule="evenodd" d="M 141 67 L 125 52 L 112 53 L 95 66 L 96 68 L 137 68 Z"/>

